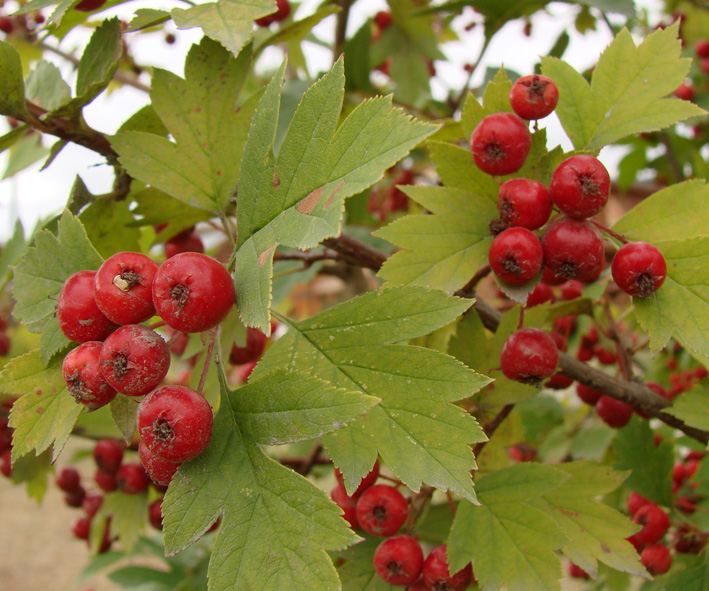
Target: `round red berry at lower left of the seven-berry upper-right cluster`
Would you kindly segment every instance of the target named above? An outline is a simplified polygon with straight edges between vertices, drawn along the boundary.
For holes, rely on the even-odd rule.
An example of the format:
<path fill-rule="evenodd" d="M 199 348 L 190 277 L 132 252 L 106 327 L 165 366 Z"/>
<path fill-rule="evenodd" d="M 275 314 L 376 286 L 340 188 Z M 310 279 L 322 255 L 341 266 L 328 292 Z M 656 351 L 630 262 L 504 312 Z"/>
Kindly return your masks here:
<path fill-rule="evenodd" d="M 510 285 L 524 285 L 542 270 L 542 243 L 526 228 L 508 228 L 495 236 L 488 260 L 495 275 Z"/>

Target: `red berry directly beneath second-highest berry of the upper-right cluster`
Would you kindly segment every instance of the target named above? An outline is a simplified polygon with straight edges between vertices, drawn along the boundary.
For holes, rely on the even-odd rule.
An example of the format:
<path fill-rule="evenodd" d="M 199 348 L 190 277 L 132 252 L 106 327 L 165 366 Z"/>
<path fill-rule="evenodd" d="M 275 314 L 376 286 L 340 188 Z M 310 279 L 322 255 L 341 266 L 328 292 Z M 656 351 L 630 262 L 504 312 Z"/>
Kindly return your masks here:
<path fill-rule="evenodd" d="M 530 179 L 510 179 L 500 185 L 497 209 L 508 226 L 536 230 L 547 223 L 552 202 L 542 183 Z"/>

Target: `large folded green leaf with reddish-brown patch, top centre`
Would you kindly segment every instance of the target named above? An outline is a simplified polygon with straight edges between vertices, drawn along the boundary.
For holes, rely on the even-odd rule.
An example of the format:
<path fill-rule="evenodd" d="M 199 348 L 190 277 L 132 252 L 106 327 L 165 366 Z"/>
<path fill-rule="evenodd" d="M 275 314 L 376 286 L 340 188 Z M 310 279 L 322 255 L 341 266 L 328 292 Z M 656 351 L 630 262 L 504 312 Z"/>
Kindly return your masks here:
<path fill-rule="evenodd" d="M 337 123 L 344 92 L 342 58 L 311 86 L 281 144 L 274 144 L 285 63 L 253 118 L 241 164 L 235 282 L 242 320 L 267 332 L 273 254 L 305 250 L 339 233 L 346 197 L 368 188 L 436 127 L 412 120 L 377 97 Z"/>

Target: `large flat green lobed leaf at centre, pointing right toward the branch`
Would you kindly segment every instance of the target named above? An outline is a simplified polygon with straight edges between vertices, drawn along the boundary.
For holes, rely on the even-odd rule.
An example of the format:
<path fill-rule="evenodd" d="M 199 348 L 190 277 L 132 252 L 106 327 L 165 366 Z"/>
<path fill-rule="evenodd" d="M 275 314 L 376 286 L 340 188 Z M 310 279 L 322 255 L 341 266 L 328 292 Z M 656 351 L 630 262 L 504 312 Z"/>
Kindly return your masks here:
<path fill-rule="evenodd" d="M 475 502 L 469 444 L 485 435 L 451 403 L 472 396 L 489 379 L 442 353 L 391 344 L 449 324 L 471 303 L 413 286 L 371 292 L 308 320 L 288 321 L 288 332 L 253 376 L 293 367 L 382 399 L 366 416 L 323 439 L 349 491 L 381 454 L 412 490 L 426 482 Z"/>

